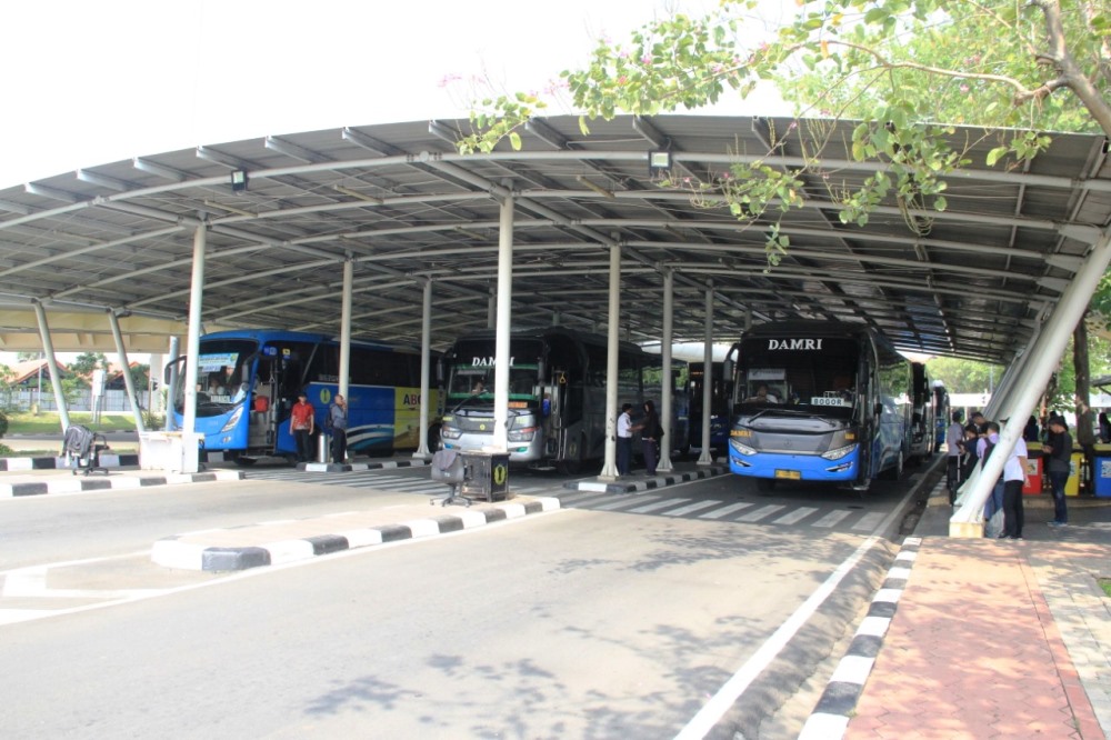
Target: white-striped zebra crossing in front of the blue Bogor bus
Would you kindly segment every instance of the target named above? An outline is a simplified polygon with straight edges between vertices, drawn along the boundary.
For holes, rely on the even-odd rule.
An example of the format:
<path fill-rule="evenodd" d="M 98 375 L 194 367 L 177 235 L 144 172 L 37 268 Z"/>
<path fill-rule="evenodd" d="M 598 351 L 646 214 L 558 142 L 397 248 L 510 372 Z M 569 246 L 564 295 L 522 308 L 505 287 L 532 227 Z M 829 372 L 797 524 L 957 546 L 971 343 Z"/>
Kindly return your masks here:
<path fill-rule="evenodd" d="M 560 506 L 564 509 L 684 517 L 744 524 L 813 527 L 852 532 L 872 532 L 888 516 L 887 511 L 847 509 L 835 503 L 829 507 L 813 507 L 757 501 L 728 502 L 718 499 L 667 497 L 660 493 L 617 497 L 612 493 L 564 493 L 560 496 Z"/>

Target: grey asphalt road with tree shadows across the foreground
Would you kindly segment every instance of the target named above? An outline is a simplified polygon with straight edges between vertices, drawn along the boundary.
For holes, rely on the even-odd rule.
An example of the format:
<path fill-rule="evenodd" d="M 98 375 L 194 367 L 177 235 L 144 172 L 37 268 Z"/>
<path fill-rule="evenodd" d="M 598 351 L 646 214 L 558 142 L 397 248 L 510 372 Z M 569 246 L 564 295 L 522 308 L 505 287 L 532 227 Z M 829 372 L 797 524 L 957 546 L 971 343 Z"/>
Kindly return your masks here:
<path fill-rule="evenodd" d="M 669 493 L 768 506 L 738 482 Z M 0 502 L 0 568 L 411 496 L 300 480 L 171 489 Z M 891 514 L 905 492 L 773 493 L 784 510 L 849 511 L 841 527 L 585 507 L 237 576 L 164 573 L 142 584 L 159 598 L 0 627 L 0 663 L 16 667 L 0 671 L 0 727 L 16 738 L 665 738 L 723 701 L 740 671 L 745 688 L 725 698 L 718 731 L 791 737 L 891 557 L 851 522 Z M 91 603 L 81 588 L 134 586 L 141 559 L 89 570 L 69 584 L 72 604 Z M 853 559 L 830 598 L 808 603 Z"/>

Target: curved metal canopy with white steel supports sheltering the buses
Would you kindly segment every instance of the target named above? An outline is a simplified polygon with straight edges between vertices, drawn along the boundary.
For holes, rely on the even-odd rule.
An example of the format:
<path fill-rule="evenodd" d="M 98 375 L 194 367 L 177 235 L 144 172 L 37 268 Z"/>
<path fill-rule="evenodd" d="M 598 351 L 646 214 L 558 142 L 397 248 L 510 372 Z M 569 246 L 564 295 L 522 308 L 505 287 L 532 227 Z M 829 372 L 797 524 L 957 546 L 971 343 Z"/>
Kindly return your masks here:
<path fill-rule="evenodd" d="M 611 377 L 619 339 L 660 342 L 668 378 L 672 342 L 709 352 L 753 321 L 838 319 L 904 351 L 1008 366 L 987 412 L 1024 419 L 1111 260 L 1104 138 L 1054 136 L 1029 164 L 987 168 L 995 134 L 957 129 L 971 163 L 947 178 L 945 211 L 890 202 L 857 226 L 838 196 L 885 164 L 851 159 L 852 127 L 621 117 L 583 133 L 574 117 L 549 118 L 529 123 L 520 151 L 460 156 L 468 121 L 420 121 L 80 169 L 0 191 L 0 346 L 48 358 L 114 347 L 126 363 L 171 336 L 196 356 L 204 331 L 274 327 L 420 342 L 427 357 L 494 327 L 504 444 L 510 327 L 604 330 Z M 661 157 L 669 187 L 649 167 Z M 771 220 L 738 221 L 697 191 L 757 161 L 805 168 L 807 204 L 783 216 L 791 246 L 774 268 Z M 196 379 L 184 382 L 190 430 Z M 615 472 L 609 387 L 603 476 Z M 1008 424 L 1001 443 L 1020 434 Z M 989 488 L 964 496 L 954 533 L 977 530 Z"/>

